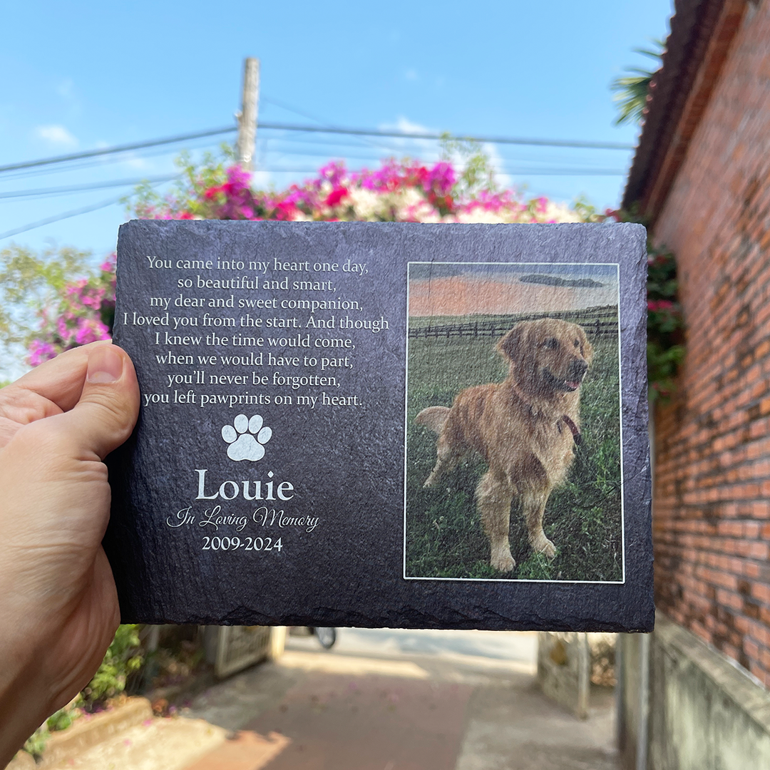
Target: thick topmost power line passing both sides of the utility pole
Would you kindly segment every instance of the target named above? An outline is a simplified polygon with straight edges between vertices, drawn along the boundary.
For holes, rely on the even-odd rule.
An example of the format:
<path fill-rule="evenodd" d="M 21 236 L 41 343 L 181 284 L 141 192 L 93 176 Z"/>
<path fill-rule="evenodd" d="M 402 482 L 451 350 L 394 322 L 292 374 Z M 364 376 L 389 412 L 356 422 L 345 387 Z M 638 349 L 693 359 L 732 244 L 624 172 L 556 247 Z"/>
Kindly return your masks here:
<path fill-rule="evenodd" d="M 298 131 L 311 133 L 344 134 L 346 136 L 379 136 L 390 139 L 429 139 L 440 141 L 441 139 L 454 139 L 460 142 L 488 142 L 490 144 L 511 144 L 511 145 L 529 145 L 537 147 L 571 147 L 574 149 L 634 149 L 633 145 L 622 144 L 620 142 L 584 142 L 577 139 L 520 139 L 511 136 L 461 136 L 452 134 L 437 133 L 417 133 L 403 131 L 380 131 L 375 129 L 344 129 L 333 126 L 300 126 L 293 123 L 272 123 L 262 122 L 260 129 L 269 129 L 275 131 Z M 17 171 L 19 169 L 31 169 L 36 166 L 49 166 L 53 163 L 63 163 L 71 160 L 82 160 L 85 158 L 96 158 L 105 155 L 114 155 L 118 152 L 129 152 L 135 149 L 145 149 L 147 147 L 156 147 L 159 145 L 174 144 L 176 142 L 186 142 L 189 139 L 200 139 L 204 136 L 217 136 L 219 134 L 235 132 L 235 126 L 221 129 L 209 129 L 207 131 L 198 131 L 189 134 L 179 134 L 178 136 L 169 136 L 165 139 L 149 139 L 146 142 L 132 142 L 126 145 L 116 145 L 114 147 L 105 147 L 103 149 L 88 150 L 85 152 L 72 152 L 69 155 L 54 156 L 51 158 L 42 158 L 38 160 L 28 160 L 21 163 L 11 163 L 7 166 L 0 166 L 0 173 L 8 171 Z"/>

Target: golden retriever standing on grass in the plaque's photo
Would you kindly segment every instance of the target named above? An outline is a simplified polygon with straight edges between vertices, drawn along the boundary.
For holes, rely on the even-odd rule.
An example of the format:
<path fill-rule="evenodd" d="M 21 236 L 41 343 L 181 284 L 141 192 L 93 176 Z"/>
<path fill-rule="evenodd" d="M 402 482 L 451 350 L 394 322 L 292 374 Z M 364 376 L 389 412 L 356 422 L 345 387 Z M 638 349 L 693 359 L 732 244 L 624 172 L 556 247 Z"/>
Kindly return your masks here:
<path fill-rule="evenodd" d="M 517 323 L 497 350 L 510 365 L 503 382 L 469 387 L 451 408 L 428 407 L 415 421 L 438 434 L 436 465 L 424 486 L 433 487 L 471 451 L 487 461 L 476 503 L 490 564 L 510 572 L 516 566 L 508 541 L 514 498 L 521 500 L 531 547 L 549 559 L 556 555 L 543 514 L 580 440 L 580 386 L 593 350 L 580 326 L 556 318 Z"/>

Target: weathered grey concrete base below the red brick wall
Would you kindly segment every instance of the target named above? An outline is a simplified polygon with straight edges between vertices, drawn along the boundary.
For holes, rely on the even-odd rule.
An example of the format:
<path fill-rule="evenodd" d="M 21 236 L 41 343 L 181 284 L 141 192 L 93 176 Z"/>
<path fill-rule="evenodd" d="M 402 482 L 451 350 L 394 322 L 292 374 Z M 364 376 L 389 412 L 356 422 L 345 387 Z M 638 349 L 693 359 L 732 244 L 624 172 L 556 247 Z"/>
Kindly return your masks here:
<path fill-rule="evenodd" d="M 624 770 L 636 770 L 642 641 L 619 638 Z M 760 683 L 661 614 L 649 654 L 647 770 L 770 768 L 770 694 Z"/>

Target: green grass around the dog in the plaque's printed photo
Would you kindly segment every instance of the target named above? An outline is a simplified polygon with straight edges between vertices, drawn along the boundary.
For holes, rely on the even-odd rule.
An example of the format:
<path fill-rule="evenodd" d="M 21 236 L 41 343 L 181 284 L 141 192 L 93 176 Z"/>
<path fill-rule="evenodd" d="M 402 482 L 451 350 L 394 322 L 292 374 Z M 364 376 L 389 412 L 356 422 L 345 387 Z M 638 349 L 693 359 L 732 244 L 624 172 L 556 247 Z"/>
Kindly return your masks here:
<path fill-rule="evenodd" d="M 425 319 L 416 322 L 424 324 Z M 474 500 L 486 470 L 480 458 L 460 465 L 437 487 L 423 488 L 436 460 L 436 435 L 416 425 L 414 417 L 425 407 L 451 406 L 466 387 L 503 380 L 506 367 L 494 349 L 496 342 L 488 336 L 409 340 L 405 574 L 621 581 L 620 386 L 614 336 L 591 340 L 594 361 L 581 387 L 583 444 L 576 450 L 566 484 L 554 490 L 545 511 L 545 534 L 558 551 L 553 561 L 531 551 L 524 518 L 514 502 L 511 553 L 516 567 L 507 575 L 490 567 L 489 544 Z"/>

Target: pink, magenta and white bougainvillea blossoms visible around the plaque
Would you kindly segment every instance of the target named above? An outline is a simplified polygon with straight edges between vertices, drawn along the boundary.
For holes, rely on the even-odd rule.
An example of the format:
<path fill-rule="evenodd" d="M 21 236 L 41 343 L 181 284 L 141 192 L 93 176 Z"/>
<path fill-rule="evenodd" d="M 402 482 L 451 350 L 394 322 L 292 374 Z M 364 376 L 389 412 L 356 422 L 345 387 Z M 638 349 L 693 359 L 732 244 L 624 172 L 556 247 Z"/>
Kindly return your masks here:
<path fill-rule="evenodd" d="M 461 196 L 460 173 L 449 161 L 426 166 L 417 160 L 385 159 L 377 169 L 351 172 L 343 161 L 326 163 L 312 179 L 282 191 L 253 189 L 253 175 L 239 166 L 191 176 L 182 203 L 169 195 L 140 203 L 147 219 L 273 219 L 278 221 L 368 221 L 423 223 L 579 222 L 583 217 L 546 198 L 524 199 L 513 189 L 480 189 Z M 203 179 L 208 179 L 207 183 Z M 670 305 L 670 306 L 669 306 Z M 678 313 L 658 300 L 654 310 Z M 37 339 L 28 347 L 33 366 L 62 350 L 109 339 L 115 311 L 115 255 L 99 273 L 75 280 L 41 314 Z"/>

